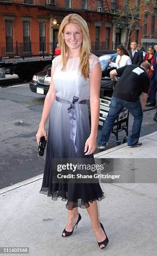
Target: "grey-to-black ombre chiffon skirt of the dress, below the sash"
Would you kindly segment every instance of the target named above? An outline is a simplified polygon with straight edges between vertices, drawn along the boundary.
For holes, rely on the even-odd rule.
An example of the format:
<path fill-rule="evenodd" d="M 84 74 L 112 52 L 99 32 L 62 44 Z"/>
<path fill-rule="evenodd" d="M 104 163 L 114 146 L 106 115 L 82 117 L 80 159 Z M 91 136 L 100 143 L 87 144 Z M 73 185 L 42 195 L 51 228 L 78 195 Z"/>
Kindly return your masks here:
<path fill-rule="evenodd" d="M 67 104 L 53 102 L 50 112 L 46 161 L 43 173 L 43 183 L 40 193 L 51 197 L 52 200 L 61 198 L 66 201 L 66 208 L 87 208 L 89 202 L 104 199 L 104 192 L 98 183 L 56 183 L 53 181 L 53 161 L 55 159 L 93 159 L 93 154 L 84 155 L 84 147 L 90 135 L 87 105 L 76 104 L 77 130 L 75 153 L 73 141 L 70 139 L 69 114 Z M 88 161 L 88 160 L 87 160 Z M 55 170 L 57 172 L 57 170 Z"/>

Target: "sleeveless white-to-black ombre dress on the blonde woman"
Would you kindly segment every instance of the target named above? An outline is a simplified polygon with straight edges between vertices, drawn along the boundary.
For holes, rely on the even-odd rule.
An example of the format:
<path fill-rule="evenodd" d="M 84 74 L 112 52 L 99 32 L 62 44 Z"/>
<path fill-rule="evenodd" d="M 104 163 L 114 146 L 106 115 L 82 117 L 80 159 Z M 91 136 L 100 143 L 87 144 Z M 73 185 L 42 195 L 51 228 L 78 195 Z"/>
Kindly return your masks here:
<path fill-rule="evenodd" d="M 100 62 L 94 54 L 89 57 L 90 70 Z M 68 59 L 66 69 L 61 71 L 61 55 L 52 61 L 53 82 L 56 90 L 56 98 L 65 102 L 54 100 L 49 119 L 48 141 L 46 149 L 46 161 L 43 174 L 43 183 L 40 193 L 57 200 L 67 201 L 66 208 L 72 210 L 73 207 L 87 208 L 89 202 L 100 201 L 104 198 L 99 182 L 98 183 L 55 183 L 52 175 L 52 164 L 54 159 L 94 159 L 93 154 L 84 155 L 84 147 L 90 135 L 88 107 L 86 104 L 74 104 L 74 114 L 72 118 L 70 103 L 73 97 L 77 101 L 89 99 L 89 78 L 85 80 L 78 69 L 79 57 Z M 67 102 L 70 102 L 67 104 Z M 72 105 L 71 105 L 72 106 Z M 71 108 L 72 109 L 72 108 Z M 72 120 L 73 119 L 73 120 Z M 75 120 L 74 120 L 75 119 Z M 72 121 L 71 121 L 72 120 Z M 74 134 L 75 133 L 75 134 Z M 57 172 L 57 170 L 56 170 Z"/>

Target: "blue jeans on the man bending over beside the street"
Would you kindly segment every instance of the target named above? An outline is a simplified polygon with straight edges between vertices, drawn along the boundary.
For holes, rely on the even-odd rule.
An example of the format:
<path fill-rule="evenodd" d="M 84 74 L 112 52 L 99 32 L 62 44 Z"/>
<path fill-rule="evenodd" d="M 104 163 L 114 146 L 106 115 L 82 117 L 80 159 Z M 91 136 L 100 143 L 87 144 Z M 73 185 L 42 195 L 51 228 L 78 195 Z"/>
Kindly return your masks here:
<path fill-rule="evenodd" d="M 112 96 L 109 113 L 103 124 L 101 134 L 98 138 L 99 146 L 105 146 L 106 142 L 109 141 L 109 136 L 114 125 L 114 121 L 116 120 L 119 113 L 123 110 L 123 108 L 127 108 L 127 110 L 129 110 L 129 112 L 134 116 L 132 134 L 128 136 L 127 144 L 128 146 L 131 146 L 135 145 L 139 141 L 143 119 L 143 110 L 140 100 L 129 102 Z"/>

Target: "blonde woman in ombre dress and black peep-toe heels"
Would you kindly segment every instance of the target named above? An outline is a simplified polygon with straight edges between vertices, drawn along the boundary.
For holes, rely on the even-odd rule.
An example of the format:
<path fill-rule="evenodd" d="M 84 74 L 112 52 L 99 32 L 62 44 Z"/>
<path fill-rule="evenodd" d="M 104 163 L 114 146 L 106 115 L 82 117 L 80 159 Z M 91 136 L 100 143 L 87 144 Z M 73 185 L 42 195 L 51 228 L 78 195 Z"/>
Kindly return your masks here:
<path fill-rule="evenodd" d="M 89 29 L 78 14 L 69 14 L 58 31 L 61 55 L 52 61 L 51 84 L 44 102 L 37 143 L 46 136 L 45 123 L 50 114 L 46 162 L 41 193 L 67 201 L 68 219 L 62 236 L 71 236 L 81 220 L 78 207 L 86 208 L 99 247 L 106 247 L 108 238 L 99 222 L 97 200 L 104 198 L 98 183 L 55 183 L 51 164 L 60 159 L 94 159 L 99 121 L 101 65 L 91 54 Z M 91 133 L 87 100 L 90 96 Z M 54 171 L 54 170 L 53 170 Z M 56 170 L 57 172 L 57 170 Z"/>

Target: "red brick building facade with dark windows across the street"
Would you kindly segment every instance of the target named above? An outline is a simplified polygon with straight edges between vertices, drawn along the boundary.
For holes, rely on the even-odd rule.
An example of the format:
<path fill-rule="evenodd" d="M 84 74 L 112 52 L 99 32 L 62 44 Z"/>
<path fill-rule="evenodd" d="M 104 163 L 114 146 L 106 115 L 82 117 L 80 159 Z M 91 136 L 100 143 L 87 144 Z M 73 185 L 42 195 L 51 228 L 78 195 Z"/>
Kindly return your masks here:
<path fill-rule="evenodd" d="M 0 55 L 52 53 L 61 20 L 69 13 L 78 13 L 86 20 L 92 49 L 113 49 L 119 43 L 125 44 L 128 24 L 116 21 L 115 14 L 127 1 L 0 0 Z M 131 39 L 155 43 L 156 6 L 142 8 Z"/>

